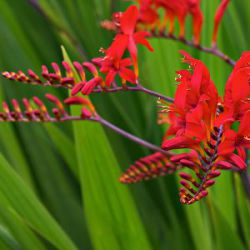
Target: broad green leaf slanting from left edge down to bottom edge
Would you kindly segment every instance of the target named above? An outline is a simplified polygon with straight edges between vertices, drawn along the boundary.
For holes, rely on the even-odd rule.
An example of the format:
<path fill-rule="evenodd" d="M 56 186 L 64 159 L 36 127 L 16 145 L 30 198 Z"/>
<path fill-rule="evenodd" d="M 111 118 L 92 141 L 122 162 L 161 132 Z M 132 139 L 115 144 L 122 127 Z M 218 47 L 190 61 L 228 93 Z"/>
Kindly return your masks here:
<path fill-rule="evenodd" d="M 25 222 L 54 246 L 65 250 L 76 249 L 74 243 L 3 156 L 0 156 L 0 192 Z"/>

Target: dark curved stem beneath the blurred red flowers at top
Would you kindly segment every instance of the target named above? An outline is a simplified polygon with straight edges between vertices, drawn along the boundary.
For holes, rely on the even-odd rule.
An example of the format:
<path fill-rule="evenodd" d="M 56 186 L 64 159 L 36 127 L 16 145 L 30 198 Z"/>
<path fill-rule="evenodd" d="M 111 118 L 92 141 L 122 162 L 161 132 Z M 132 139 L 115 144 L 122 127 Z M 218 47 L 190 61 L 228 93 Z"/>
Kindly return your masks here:
<path fill-rule="evenodd" d="M 223 61 L 225 61 L 227 64 L 229 64 L 231 66 L 235 65 L 235 61 L 233 59 L 231 59 L 228 55 L 226 55 L 222 51 L 220 51 L 217 47 L 212 47 L 212 48 L 203 47 L 201 45 L 195 44 L 193 41 L 188 41 L 184 38 L 179 38 L 177 36 L 169 35 L 169 34 L 163 33 L 163 32 L 161 32 L 161 33 L 151 32 L 150 37 L 175 40 L 175 41 L 181 42 L 189 47 L 193 47 L 193 48 L 196 48 L 196 49 L 203 51 L 205 53 L 212 54 L 212 55 L 222 59 Z"/>

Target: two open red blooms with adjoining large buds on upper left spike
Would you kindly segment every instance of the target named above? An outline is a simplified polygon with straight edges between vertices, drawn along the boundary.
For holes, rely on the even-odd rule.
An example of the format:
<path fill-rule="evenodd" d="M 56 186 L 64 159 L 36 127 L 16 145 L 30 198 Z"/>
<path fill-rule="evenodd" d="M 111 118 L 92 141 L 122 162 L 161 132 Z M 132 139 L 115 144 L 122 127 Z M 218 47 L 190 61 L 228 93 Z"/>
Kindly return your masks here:
<path fill-rule="evenodd" d="M 88 84 L 89 87 L 87 92 L 83 91 L 84 94 L 90 94 L 100 83 L 104 83 L 102 86 L 110 87 L 116 75 L 119 75 L 122 79 L 123 85 L 125 85 L 126 82 L 137 84 L 139 75 L 137 45 L 142 44 L 150 51 L 153 51 L 153 48 L 146 40 L 148 32 L 136 31 L 138 18 L 138 8 L 133 5 L 124 13 L 120 12 L 114 14 L 114 25 L 117 28 L 117 35 L 108 49 L 101 49 L 101 52 L 103 52 L 105 56 L 92 60 L 92 62 L 99 67 L 100 72 L 104 74 L 105 80 L 102 80 L 96 69 L 93 69 L 92 72 L 94 73 L 95 71 L 95 79 L 91 79 L 88 83 L 82 82 L 80 85 L 78 84 L 78 86 L 73 89 L 73 95 L 81 91 L 86 84 Z M 124 58 L 126 50 L 129 51 L 129 58 Z M 133 66 L 133 69 L 131 69 L 131 66 Z"/>

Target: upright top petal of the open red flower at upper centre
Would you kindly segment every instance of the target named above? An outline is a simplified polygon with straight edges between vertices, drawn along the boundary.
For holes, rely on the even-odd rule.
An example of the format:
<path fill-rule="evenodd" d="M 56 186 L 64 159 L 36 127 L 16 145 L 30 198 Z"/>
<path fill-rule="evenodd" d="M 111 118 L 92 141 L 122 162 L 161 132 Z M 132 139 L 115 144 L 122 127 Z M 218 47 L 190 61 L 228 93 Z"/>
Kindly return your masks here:
<path fill-rule="evenodd" d="M 121 29 L 126 35 L 132 35 L 136 22 L 138 20 L 139 11 L 135 5 L 130 6 L 121 17 Z"/>

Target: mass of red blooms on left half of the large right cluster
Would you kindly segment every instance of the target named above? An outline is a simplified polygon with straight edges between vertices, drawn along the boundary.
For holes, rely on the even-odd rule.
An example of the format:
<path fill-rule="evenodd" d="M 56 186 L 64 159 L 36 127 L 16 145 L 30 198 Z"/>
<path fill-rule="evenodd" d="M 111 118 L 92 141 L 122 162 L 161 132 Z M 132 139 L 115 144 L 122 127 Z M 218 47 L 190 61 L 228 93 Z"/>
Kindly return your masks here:
<path fill-rule="evenodd" d="M 177 72 L 180 84 L 174 103 L 168 108 L 170 127 L 164 139 L 170 135 L 177 137 L 164 140 L 162 147 L 167 150 L 186 147 L 197 149 L 197 145 L 210 136 L 218 103 L 217 90 L 208 69 L 186 52 L 181 53 L 193 72 Z"/>

